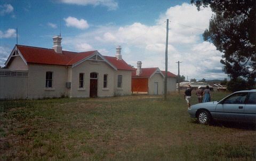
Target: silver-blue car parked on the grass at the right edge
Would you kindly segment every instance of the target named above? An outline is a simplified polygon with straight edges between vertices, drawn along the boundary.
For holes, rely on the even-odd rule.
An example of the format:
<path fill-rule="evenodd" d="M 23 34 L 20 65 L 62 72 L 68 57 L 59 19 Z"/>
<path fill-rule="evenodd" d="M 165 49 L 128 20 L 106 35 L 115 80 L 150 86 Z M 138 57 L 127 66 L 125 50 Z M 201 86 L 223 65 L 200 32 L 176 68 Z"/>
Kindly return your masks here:
<path fill-rule="evenodd" d="M 256 123 L 256 90 L 238 91 L 220 101 L 194 104 L 188 114 L 200 124 L 209 124 L 213 119 Z"/>

